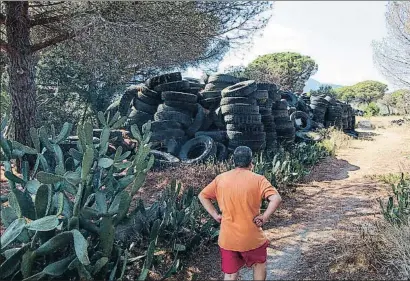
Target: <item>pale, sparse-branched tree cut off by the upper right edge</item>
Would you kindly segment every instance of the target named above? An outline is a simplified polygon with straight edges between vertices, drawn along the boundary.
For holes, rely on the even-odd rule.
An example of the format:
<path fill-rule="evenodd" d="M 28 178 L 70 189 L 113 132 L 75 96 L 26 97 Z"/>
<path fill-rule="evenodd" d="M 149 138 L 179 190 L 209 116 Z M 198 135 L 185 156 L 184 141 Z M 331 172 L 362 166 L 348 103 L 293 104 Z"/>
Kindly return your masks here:
<path fill-rule="evenodd" d="M 410 2 L 389 1 L 387 36 L 374 43 L 374 60 L 387 79 L 410 88 Z"/>

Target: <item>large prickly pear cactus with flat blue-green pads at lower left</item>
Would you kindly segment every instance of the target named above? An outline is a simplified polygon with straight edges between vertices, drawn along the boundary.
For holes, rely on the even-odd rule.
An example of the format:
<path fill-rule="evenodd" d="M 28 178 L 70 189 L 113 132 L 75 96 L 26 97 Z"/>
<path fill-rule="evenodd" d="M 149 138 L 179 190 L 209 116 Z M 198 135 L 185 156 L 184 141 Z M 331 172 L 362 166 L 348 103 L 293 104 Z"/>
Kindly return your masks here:
<path fill-rule="evenodd" d="M 126 252 L 115 244 L 115 228 L 128 219 L 131 198 L 153 165 L 150 126 L 143 132 L 131 128 L 138 144 L 135 151 L 123 152 L 117 147 L 113 152 L 110 134 L 126 117 L 117 113 L 110 118 L 101 112 L 97 117 L 102 125 L 100 137 L 93 136 L 90 122 L 79 125 L 75 147 L 67 153 L 61 146 L 71 134 L 69 123 L 58 134 L 54 128 L 32 128 L 33 147 L 1 135 L 0 160 L 10 189 L 7 198 L 2 198 L 1 217 L 7 229 L 1 236 L 5 258 L 0 265 L 1 279 L 122 278 L 124 272 L 117 268 L 121 262 L 125 269 Z M 28 154 L 35 157 L 33 169 L 23 161 L 22 175 L 13 174 L 12 162 L 24 160 Z M 152 243 L 159 222 L 154 226 Z M 152 261 L 155 243 L 152 245 L 144 270 Z M 38 268 L 39 264 L 45 266 Z M 73 272 L 75 276 L 67 275 Z"/>

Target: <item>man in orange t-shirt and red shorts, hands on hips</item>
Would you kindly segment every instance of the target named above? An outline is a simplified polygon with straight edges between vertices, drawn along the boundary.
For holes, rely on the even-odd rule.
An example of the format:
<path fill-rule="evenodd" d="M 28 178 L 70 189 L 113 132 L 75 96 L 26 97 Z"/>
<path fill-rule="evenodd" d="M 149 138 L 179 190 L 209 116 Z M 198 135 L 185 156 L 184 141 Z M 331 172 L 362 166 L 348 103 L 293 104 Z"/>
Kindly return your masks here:
<path fill-rule="evenodd" d="M 244 265 L 253 266 L 254 280 L 265 280 L 269 241 L 261 227 L 282 199 L 264 176 L 251 171 L 249 147 L 237 147 L 233 159 L 235 169 L 217 176 L 198 197 L 208 213 L 221 223 L 218 244 L 225 280 L 237 280 Z M 222 215 L 212 205 L 211 200 L 215 199 Z M 261 215 L 263 199 L 269 200 L 269 206 Z"/>

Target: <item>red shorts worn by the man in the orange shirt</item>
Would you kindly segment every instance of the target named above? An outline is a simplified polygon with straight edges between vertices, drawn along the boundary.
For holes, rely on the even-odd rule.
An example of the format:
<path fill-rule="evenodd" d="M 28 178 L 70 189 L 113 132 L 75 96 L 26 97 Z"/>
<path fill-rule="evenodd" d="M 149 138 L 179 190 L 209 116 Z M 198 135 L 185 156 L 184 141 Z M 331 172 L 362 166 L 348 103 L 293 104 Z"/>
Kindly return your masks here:
<path fill-rule="evenodd" d="M 238 272 L 245 264 L 251 267 L 255 263 L 266 262 L 268 255 L 266 248 L 268 248 L 269 244 L 269 241 L 266 241 L 266 243 L 259 248 L 246 252 L 229 251 L 219 247 L 221 251 L 222 271 L 226 274 L 232 274 Z"/>

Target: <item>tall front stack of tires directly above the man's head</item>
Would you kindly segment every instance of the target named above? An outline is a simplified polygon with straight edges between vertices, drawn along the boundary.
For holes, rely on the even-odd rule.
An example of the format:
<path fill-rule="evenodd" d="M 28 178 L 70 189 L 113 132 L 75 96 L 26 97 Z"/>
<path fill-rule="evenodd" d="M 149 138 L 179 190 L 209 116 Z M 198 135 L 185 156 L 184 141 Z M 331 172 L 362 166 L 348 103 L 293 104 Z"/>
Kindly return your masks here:
<path fill-rule="evenodd" d="M 254 98 L 256 91 L 253 80 L 239 82 L 222 91 L 221 113 L 226 123 L 229 150 L 248 146 L 259 152 L 266 147 L 266 133 Z"/>

